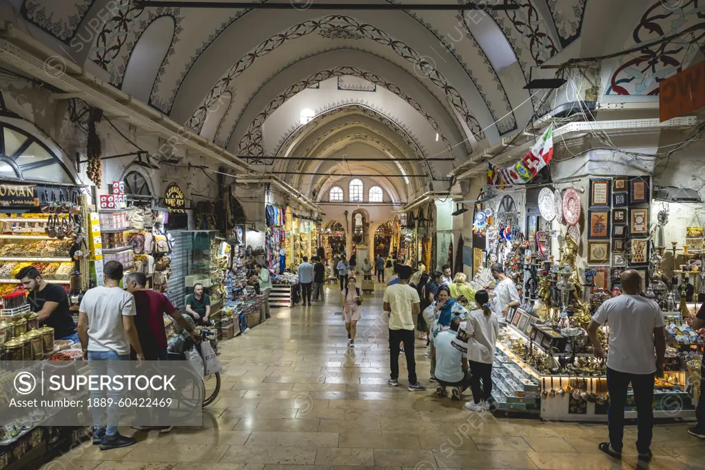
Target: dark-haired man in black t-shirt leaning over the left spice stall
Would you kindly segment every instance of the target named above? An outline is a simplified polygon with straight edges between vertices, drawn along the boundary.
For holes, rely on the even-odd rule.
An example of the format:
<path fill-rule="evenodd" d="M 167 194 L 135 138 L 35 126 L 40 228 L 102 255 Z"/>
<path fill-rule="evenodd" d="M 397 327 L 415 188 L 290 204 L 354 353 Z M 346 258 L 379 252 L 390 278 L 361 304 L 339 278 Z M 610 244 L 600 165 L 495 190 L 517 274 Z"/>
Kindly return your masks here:
<path fill-rule="evenodd" d="M 23 268 L 16 279 L 30 291 L 27 302 L 39 314 L 39 324 L 54 328 L 54 338 L 79 342 L 73 316 L 68 311 L 68 295 L 59 285 L 49 284 L 34 266 Z"/>

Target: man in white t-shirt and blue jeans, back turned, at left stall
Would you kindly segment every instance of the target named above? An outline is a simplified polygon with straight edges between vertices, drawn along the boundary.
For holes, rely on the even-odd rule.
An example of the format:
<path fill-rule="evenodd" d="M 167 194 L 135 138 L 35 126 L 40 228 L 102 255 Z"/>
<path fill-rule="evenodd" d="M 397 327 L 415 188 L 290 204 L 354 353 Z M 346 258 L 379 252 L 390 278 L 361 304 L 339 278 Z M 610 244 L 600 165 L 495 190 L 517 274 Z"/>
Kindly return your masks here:
<path fill-rule="evenodd" d="M 140 338 L 135 328 L 135 303 L 133 295 L 120 287 L 123 265 L 108 261 L 103 267 L 104 284 L 85 293 L 78 310 L 78 338 L 83 358 L 88 359 L 92 376 L 113 376 L 116 361 L 130 360 L 130 345 L 137 352 L 137 361 L 144 361 Z M 111 365 L 111 363 L 113 363 Z M 91 401 L 107 398 L 118 403 L 123 391 L 91 391 Z M 118 433 L 118 407 L 91 407 L 93 415 L 93 444 L 100 450 L 133 445 L 134 438 Z M 106 426 L 107 424 L 107 426 Z"/>

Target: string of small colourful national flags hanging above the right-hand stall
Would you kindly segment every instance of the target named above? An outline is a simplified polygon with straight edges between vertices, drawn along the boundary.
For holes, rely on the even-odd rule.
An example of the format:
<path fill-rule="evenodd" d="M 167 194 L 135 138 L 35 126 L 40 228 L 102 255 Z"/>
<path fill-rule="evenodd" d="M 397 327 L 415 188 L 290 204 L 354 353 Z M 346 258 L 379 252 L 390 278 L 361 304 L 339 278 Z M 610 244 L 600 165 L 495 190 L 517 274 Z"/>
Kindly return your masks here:
<path fill-rule="evenodd" d="M 525 185 L 541 171 L 541 168 L 548 165 L 552 158 L 553 125 L 549 125 L 529 153 L 513 166 L 500 168 L 488 162 L 487 184 L 497 187 Z"/>

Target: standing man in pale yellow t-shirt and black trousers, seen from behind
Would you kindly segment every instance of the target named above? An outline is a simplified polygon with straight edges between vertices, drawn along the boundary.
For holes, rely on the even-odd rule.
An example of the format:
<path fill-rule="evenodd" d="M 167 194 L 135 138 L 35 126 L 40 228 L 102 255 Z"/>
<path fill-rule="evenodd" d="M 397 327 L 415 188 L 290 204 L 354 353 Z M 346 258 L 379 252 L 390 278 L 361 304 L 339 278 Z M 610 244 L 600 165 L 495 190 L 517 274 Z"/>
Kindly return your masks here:
<path fill-rule="evenodd" d="M 419 292 L 409 285 L 410 266 L 399 266 L 399 283 L 387 286 L 384 291 L 384 311 L 389 312 L 389 351 L 391 355 L 391 378 L 387 382 L 399 385 L 399 343 L 404 343 L 406 367 L 409 372 L 409 391 L 426 390 L 416 378 L 414 359 L 414 316 L 421 311 Z"/>

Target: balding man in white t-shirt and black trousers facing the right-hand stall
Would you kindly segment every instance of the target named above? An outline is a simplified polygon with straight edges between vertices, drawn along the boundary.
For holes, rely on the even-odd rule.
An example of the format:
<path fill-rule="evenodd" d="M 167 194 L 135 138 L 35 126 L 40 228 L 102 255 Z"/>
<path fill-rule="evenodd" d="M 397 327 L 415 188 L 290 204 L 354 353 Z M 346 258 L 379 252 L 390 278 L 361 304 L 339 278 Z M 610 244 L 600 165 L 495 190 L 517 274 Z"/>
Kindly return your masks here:
<path fill-rule="evenodd" d="M 632 384 L 637 404 L 637 452 L 638 459 L 651 459 L 651 437 L 654 428 L 654 377 L 663 371 L 663 356 L 666 354 L 665 323 L 661 308 L 653 300 L 639 295 L 642 277 L 637 271 L 627 269 L 622 274 L 623 295 L 608 299 L 592 316 L 587 333 L 594 348 L 595 357 L 605 357 L 598 338 L 598 329 L 607 325 L 610 329 L 609 354 L 607 357 L 607 390 L 610 393 L 608 428 L 610 442 L 598 447 L 612 457 L 622 457 L 624 435 L 624 407 L 627 402 L 627 387 Z"/>

